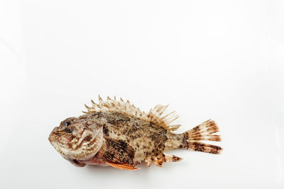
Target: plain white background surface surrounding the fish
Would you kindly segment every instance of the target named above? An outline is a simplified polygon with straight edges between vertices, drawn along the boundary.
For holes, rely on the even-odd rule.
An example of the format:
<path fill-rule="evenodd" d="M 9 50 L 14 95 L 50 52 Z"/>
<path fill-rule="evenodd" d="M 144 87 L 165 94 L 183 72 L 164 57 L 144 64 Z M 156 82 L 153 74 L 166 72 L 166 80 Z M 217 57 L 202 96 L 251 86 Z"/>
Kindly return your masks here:
<path fill-rule="evenodd" d="M 0 188 L 283 188 L 284 1 L 0 1 Z M 138 171 L 77 168 L 48 142 L 91 98 L 178 132 L 212 118 L 221 155 Z M 90 103 L 89 103 L 90 104 Z"/>

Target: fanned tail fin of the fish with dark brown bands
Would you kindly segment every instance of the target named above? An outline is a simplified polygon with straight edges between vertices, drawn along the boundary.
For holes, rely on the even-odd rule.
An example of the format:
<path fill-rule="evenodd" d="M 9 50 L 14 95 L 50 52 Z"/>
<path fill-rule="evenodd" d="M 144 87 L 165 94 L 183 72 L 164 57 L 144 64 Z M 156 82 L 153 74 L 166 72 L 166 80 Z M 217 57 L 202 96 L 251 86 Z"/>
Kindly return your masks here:
<path fill-rule="evenodd" d="M 197 142 L 200 140 L 221 141 L 221 137 L 219 135 L 213 134 L 218 131 L 219 129 L 217 124 L 213 120 L 202 122 L 202 124 L 183 133 L 184 137 L 182 139 L 182 148 L 219 154 L 222 150 L 221 147 Z"/>

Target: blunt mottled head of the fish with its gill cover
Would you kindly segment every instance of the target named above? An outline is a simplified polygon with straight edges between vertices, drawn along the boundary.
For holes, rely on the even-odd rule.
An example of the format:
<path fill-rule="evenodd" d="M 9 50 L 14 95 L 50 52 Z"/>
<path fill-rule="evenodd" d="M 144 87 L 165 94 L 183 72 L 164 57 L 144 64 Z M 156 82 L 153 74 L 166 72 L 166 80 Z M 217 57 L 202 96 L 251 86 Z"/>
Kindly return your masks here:
<path fill-rule="evenodd" d="M 102 147 L 102 125 L 87 115 L 67 118 L 50 133 L 49 141 L 67 160 L 78 162 L 93 157 Z"/>

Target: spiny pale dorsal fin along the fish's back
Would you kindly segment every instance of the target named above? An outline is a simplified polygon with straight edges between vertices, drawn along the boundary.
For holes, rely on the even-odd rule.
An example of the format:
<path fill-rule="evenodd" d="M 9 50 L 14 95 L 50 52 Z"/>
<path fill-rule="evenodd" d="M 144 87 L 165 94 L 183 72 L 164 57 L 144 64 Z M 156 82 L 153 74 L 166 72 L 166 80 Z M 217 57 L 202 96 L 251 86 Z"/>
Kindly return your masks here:
<path fill-rule="evenodd" d="M 114 100 L 107 97 L 107 101 L 103 101 L 99 96 L 99 103 L 92 102 L 92 107 L 85 105 L 87 108 L 87 112 L 83 113 L 96 113 L 96 112 L 109 112 L 109 113 L 121 113 L 127 116 L 131 116 L 134 118 L 138 118 L 140 120 L 146 122 L 152 122 L 154 125 L 165 128 L 165 130 L 178 130 L 180 125 L 170 125 L 171 122 L 178 119 L 178 115 L 173 111 L 163 116 L 165 109 L 168 108 L 168 105 L 156 105 L 155 108 L 151 109 L 149 113 L 145 113 L 139 108 L 136 108 L 133 104 L 129 103 L 129 101 L 124 102 L 122 98 L 120 101 L 116 101 L 116 97 L 114 96 Z"/>

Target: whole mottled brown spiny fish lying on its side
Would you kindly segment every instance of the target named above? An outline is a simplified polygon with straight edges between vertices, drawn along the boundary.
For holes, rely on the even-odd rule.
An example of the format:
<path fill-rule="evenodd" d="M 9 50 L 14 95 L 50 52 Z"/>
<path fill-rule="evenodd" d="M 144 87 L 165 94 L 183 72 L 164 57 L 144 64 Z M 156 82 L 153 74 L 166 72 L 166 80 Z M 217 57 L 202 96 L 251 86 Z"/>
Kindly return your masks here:
<path fill-rule="evenodd" d="M 148 113 L 122 98 L 107 97 L 99 103 L 91 101 L 79 117 L 67 118 L 50 133 L 53 147 L 75 166 L 113 166 L 136 170 L 145 162 L 149 167 L 163 166 L 182 158 L 166 154 L 173 149 L 188 149 L 220 154 L 222 147 L 200 141 L 221 141 L 219 127 L 207 120 L 191 130 L 175 134 L 181 125 L 171 125 L 178 119 L 176 111 L 164 115 L 168 105 L 156 105 Z"/>

